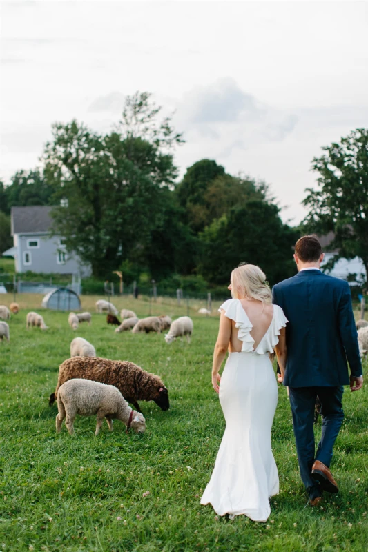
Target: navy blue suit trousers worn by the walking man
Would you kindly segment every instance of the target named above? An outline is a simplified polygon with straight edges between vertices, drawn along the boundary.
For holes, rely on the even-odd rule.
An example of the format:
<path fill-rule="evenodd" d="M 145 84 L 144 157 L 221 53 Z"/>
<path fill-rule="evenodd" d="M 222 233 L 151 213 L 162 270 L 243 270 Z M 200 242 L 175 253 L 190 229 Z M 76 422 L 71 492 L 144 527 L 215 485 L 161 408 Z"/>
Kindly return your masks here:
<path fill-rule="evenodd" d="M 333 444 L 340 431 L 344 411 L 342 410 L 343 386 L 337 387 L 289 387 L 296 451 L 302 482 L 312 499 L 321 495 L 320 484 L 311 477 L 315 460 L 329 467 Z M 314 405 L 316 397 L 322 404 L 322 436 L 317 451 L 314 442 Z"/>

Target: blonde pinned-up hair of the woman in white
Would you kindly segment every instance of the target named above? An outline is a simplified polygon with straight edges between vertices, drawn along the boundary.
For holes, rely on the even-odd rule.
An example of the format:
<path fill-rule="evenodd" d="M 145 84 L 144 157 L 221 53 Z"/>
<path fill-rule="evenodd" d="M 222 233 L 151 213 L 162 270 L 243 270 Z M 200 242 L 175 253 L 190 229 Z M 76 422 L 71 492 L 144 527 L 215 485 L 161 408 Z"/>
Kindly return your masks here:
<path fill-rule="evenodd" d="M 231 273 L 231 297 L 234 299 L 257 299 L 271 303 L 271 290 L 266 275 L 255 264 L 242 264 Z"/>

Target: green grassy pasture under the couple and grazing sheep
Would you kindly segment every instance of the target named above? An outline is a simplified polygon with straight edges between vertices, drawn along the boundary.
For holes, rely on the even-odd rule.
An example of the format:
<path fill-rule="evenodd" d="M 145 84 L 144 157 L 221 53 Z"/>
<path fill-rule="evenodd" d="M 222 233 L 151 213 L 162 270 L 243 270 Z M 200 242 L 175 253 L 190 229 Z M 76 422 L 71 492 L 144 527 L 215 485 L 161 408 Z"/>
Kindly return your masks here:
<path fill-rule="evenodd" d="M 12 297 L 3 296 L 8 304 Z M 41 312 L 41 297 L 17 297 L 21 312 L 10 320 L 10 344 L 0 344 L 0 549 L 5 551 L 362 551 L 368 542 L 367 385 L 346 391 L 345 422 L 336 443 L 332 471 L 338 495 L 320 509 L 307 506 L 293 442 L 285 388 L 273 426 L 273 451 L 280 495 L 265 524 L 246 517 L 217 518 L 200 505 L 209 481 L 224 420 L 211 388 L 211 357 L 217 315 L 194 320 L 192 343 L 166 345 L 162 335 L 116 334 L 104 315 L 75 333 L 68 313 L 43 311 L 48 331 L 26 331 L 27 310 Z M 96 297 L 83 298 L 92 309 Z M 116 299 L 117 307 L 123 306 Z M 137 314 L 148 304 L 124 301 Z M 175 302 L 151 306 L 153 314 L 186 314 Z M 184 309 L 184 310 L 183 310 Z M 93 311 L 92 311 L 93 312 Z M 113 433 L 95 417 L 78 417 L 75 435 L 55 433 L 57 408 L 49 408 L 58 366 L 69 357 L 76 335 L 97 354 L 129 359 L 162 376 L 171 408 L 162 412 L 142 402 L 147 430 Z M 365 372 L 367 363 L 365 364 Z M 316 428 L 320 433 L 320 426 Z M 149 495 L 143 497 L 143 493 Z M 2 548 L 1 548 L 2 546 Z"/>

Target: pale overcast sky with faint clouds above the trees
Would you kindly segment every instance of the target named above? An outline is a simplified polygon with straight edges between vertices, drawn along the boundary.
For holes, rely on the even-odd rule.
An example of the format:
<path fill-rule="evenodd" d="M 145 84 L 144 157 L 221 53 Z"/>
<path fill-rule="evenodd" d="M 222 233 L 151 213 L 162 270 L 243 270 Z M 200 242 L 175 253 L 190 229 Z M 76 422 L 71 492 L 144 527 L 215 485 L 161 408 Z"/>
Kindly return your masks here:
<path fill-rule="evenodd" d="M 1 1 L 1 166 L 38 164 L 55 121 L 96 130 L 153 92 L 186 144 L 304 210 L 321 146 L 368 126 L 368 3 Z"/>

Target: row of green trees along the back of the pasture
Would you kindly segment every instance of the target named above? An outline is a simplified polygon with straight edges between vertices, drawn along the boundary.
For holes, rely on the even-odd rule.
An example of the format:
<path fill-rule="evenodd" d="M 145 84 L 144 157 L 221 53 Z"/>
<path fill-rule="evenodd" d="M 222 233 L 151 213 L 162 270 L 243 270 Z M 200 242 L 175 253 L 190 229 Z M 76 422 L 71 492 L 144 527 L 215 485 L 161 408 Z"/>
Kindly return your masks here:
<path fill-rule="evenodd" d="M 310 230 L 333 230 L 340 252 L 367 266 L 367 137 L 356 130 L 340 150 L 334 144 L 313 159 L 319 188 L 307 190 L 309 214 L 293 228 L 264 181 L 230 175 L 212 159 L 197 161 L 177 183 L 173 153 L 184 138 L 148 93 L 137 92 L 108 134 L 75 120 L 55 124 L 41 170 L 16 172 L 8 186 L 0 181 L 1 251 L 12 244 L 12 206 L 52 205 L 53 232 L 97 278 L 123 270 L 126 280 L 146 273 L 156 281 L 181 275 L 222 285 L 233 267 L 251 262 L 274 284 L 295 273 L 293 244 Z M 362 164 L 358 182 L 352 160 L 345 170 L 352 148 Z"/>

